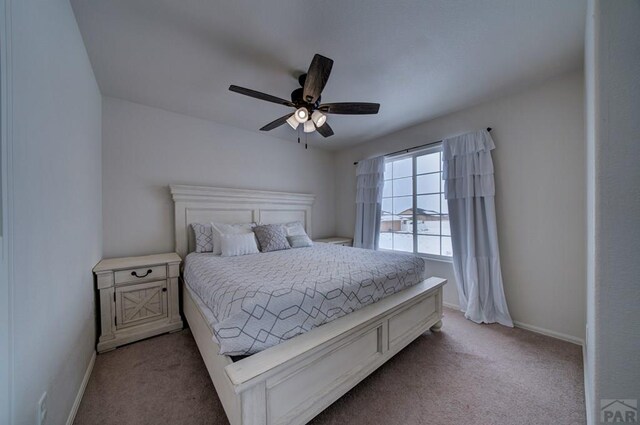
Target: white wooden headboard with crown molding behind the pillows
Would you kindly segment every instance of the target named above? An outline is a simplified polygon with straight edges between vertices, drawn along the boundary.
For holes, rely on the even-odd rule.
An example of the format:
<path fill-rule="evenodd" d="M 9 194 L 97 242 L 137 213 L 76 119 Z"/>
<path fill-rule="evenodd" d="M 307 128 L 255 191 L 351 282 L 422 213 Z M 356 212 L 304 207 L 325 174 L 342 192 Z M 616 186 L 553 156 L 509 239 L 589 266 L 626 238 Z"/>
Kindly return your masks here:
<path fill-rule="evenodd" d="M 193 251 L 191 223 L 264 223 L 301 221 L 311 237 L 311 206 L 315 195 L 170 185 L 175 206 L 176 252 Z"/>

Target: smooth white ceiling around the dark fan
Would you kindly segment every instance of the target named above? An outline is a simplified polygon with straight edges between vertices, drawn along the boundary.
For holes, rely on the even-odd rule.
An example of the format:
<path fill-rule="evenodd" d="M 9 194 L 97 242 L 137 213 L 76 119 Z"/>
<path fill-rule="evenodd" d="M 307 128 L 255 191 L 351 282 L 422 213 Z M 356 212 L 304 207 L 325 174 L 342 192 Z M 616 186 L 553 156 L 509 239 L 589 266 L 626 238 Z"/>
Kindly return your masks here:
<path fill-rule="evenodd" d="M 258 132 L 288 112 L 314 53 L 332 58 L 329 149 L 373 139 L 582 66 L 584 0 L 72 0 L 103 95 Z M 294 141 L 287 125 L 272 136 Z"/>

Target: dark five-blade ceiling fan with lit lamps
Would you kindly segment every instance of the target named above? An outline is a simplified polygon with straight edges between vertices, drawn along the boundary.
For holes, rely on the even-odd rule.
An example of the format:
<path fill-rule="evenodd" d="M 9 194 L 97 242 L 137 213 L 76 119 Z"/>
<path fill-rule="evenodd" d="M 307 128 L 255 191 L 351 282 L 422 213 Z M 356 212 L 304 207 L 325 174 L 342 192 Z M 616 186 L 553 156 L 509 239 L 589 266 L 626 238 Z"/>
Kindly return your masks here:
<path fill-rule="evenodd" d="M 229 86 L 229 90 L 245 96 L 295 108 L 294 112 L 273 120 L 262 127 L 260 129 L 262 131 L 273 130 L 286 122 L 294 130 L 302 124 L 305 133 L 312 133 L 318 130 L 318 133 L 322 136 L 329 137 L 333 135 L 333 129 L 327 123 L 326 114 L 368 115 L 377 114 L 380 109 L 379 103 L 341 102 L 321 104 L 320 95 L 327 84 L 332 67 L 332 59 L 316 54 L 311 61 L 311 65 L 309 65 L 309 71 L 298 77 L 301 87 L 291 92 L 291 101 L 234 85 Z"/>

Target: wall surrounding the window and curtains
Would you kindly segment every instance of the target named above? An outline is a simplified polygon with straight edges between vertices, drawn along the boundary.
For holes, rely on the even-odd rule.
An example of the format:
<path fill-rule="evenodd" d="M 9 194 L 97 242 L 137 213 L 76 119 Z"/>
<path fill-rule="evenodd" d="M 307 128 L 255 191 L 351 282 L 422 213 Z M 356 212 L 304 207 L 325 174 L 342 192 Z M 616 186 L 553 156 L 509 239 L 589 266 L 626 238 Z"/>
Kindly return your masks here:
<path fill-rule="evenodd" d="M 513 319 L 575 340 L 585 324 L 585 142 L 582 73 L 530 87 L 336 154 L 336 230 L 353 234 L 353 162 L 492 127 L 502 271 Z M 450 279 L 450 263 L 430 262 Z"/>

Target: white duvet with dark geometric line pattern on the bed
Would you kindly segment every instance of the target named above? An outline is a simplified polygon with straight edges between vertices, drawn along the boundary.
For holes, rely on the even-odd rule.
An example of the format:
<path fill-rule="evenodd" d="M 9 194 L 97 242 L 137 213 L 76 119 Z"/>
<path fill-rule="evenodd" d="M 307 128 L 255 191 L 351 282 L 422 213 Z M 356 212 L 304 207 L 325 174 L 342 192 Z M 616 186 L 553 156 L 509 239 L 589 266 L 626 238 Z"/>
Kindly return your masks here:
<path fill-rule="evenodd" d="M 212 311 L 220 353 L 248 355 L 426 278 L 422 258 L 324 243 L 239 257 L 189 254 L 184 276 Z"/>

